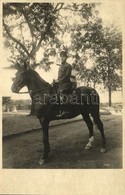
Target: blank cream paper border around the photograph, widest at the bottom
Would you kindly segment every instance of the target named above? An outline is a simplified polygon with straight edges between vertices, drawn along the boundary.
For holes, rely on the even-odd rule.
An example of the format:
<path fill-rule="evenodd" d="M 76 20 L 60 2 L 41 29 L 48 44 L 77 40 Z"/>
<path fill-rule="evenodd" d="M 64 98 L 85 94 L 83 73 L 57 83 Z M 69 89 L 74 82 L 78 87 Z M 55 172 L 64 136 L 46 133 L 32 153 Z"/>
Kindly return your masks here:
<path fill-rule="evenodd" d="M 117 2 L 117 0 L 105 1 L 79 1 L 88 2 Z M 3 2 L 1 1 L 0 10 L 2 13 Z M 49 2 L 49 1 L 18 1 L 18 2 Z M 53 1 L 60 2 L 60 1 Z M 67 2 L 67 1 L 64 1 Z M 77 1 L 68 1 L 77 2 Z M 119 0 L 124 7 L 124 0 Z M 122 7 L 121 6 L 121 7 Z M 125 193 L 125 14 L 124 8 L 121 10 L 123 15 L 123 168 L 122 169 L 3 169 L 2 168 L 2 78 L 0 78 L 0 116 L 1 116 L 1 141 L 0 141 L 0 194 L 34 194 L 34 195 L 123 195 Z M 2 26 L 2 14 L 0 25 Z M 2 31 L 0 32 L 2 42 Z M 1 44 L 2 45 L 2 44 Z M 1 48 L 3 55 L 3 50 Z M 1 55 L 1 63 L 2 63 Z M 1 70 L 2 72 L 2 70 Z M 3 75 L 2 75 L 3 76 Z"/>

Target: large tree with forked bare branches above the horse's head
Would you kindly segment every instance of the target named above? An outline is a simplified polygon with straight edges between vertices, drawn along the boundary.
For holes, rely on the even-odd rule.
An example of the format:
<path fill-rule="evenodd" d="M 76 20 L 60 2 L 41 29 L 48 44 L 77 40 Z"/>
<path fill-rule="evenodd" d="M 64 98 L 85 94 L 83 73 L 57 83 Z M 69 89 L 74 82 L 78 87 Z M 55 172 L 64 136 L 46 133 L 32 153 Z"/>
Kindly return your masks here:
<path fill-rule="evenodd" d="M 4 3 L 5 46 L 11 50 L 12 65 L 18 67 L 27 58 L 32 66 L 40 65 L 36 64 L 36 54 L 43 48 L 41 64 L 46 62 L 49 69 L 50 53 L 55 55 L 64 43 L 63 36 L 71 34 L 72 26 L 77 28 L 75 16 L 82 15 L 88 21 L 94 7 L 95 4 L 76 3 Z M 83 21 L 80 23 L 83 25 Z"/>

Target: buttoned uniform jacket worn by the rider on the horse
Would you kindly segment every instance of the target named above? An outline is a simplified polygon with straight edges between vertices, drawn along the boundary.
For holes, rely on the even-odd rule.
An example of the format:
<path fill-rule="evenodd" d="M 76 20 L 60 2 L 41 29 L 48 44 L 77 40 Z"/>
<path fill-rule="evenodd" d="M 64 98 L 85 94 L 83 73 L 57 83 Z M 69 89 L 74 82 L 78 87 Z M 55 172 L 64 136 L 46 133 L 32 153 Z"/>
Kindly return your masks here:
<path fill-rule="evenodd" d="M 58 72 L 59 90 L 68 90 L 71 88 L 72 67 L 67 62 L 60 66 Z"/>

